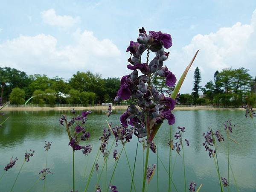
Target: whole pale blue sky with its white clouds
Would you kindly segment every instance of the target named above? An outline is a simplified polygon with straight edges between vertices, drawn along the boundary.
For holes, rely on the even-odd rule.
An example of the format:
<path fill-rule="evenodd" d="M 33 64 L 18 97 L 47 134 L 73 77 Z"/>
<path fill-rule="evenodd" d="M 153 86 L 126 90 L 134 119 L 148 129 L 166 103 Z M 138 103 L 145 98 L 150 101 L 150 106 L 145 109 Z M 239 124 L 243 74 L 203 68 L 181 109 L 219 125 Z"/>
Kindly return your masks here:
<path fill-rule="evenodd" d="M 244 67 L 256 76 L 256 0 L 0 0 L 0 5 L 0 67 L 28 75 L 69 79 L 91 71 L 121 78 L 131 73 L 126 48 L 145 27 L 172 35 L 164 65 L 177 79 L 200 49 L 180 93 L 192 92 L 196 67 L 201 86 L 226 67 Z"/>

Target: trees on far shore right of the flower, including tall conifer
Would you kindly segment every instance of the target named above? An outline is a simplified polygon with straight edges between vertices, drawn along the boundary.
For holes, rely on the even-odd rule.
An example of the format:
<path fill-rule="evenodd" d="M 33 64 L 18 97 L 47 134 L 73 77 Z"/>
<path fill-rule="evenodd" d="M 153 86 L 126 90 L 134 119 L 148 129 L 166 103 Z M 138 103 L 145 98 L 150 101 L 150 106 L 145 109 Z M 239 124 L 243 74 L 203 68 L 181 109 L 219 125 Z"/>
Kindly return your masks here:
<path fill-rule="evenodd" d="M 256 77 L 248 73 L 249 70 L 225 68 L 221 72 L 214 73 L 213 81 L 200 86 L 201 74 L 197 67 L 194 73 L 194 86 L 192 94 L 181 94 L 178 101 L 181 104 L 211 104 L 224 107 L 240 107 L 243 104 L 256 105 L 256 93 L 252 87 L 256 86 Z M 199 95 L 199 91 L 203 95 Z M 254 92 L 254 93 L 253 93 Z"/>

